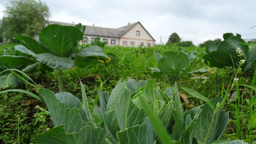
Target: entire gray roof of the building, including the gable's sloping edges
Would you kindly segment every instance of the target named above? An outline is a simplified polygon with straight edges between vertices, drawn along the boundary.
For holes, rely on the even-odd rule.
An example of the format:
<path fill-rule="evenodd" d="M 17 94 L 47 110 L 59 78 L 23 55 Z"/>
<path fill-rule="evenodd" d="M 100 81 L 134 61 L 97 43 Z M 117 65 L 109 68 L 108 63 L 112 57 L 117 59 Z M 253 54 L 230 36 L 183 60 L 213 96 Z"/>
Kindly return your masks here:
<path fill-rule="evenodd" d="M 122 37 L 122 35 L 124 35 L 126 32 L 128 32 L 130 29 L 132 29 L 138 23 L 142 26 L 142 24 L 140 22 L 134 22 L 134 23 L 129 24 L 127 26 L 122 26 L 118 29 L 104 28 L 104 27 L 99 27 L 99 26 L 86 26 L 85 25 L 86 29 L 85 29 L 84 34 L 85 35 L 91 35 L 91 36 L 120 38 L 120 37 Z M 49 21 L 49 24 L 50 25 L 57 24 L 57 25 L 62 25 L 62 26 L 75 26 L 76 25 L 74 23 L 56 22 L 56 21 Z M 143 27 L 143 29 L 145 29 L 145 28 Z M 147 30 L 146 30 L 146 32 L 149 34 L 149 32 Z M 155 41 L 155 39 L 152 36 L 151 36 L 151 38 Z"/>

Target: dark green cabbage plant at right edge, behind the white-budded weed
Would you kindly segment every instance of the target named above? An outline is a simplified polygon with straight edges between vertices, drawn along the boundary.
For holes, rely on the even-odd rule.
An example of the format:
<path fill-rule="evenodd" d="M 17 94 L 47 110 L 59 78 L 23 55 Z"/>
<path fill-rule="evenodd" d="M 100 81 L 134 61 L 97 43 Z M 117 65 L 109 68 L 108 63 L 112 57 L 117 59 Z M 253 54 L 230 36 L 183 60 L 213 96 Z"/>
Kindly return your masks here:
<path fill-rule="evenodd" d="M 245 59 L 241 73 L 247 76 L 252 75 L 256 67 L 256 47 L 245 43 L 239 34 L 235 36 L 232 33 L 225 33 L 223 38 L 224 41 L 220 44 L 206 49 L 208 54 L 203 56 L 204 62 L 210 67 L 237 68 L 239 64 L 234 61 L 239 61 L 239 56 L 236 53 L 236 48 L 239 47 L 244 52 L 242 59 Z"/>

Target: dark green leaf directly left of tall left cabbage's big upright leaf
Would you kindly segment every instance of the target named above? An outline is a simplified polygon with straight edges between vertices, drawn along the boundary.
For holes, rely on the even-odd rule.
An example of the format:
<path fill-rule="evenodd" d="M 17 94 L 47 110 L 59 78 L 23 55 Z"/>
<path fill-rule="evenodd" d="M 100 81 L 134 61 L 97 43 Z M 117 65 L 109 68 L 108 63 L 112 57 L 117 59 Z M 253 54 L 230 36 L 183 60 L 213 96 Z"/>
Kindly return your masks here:
<path fill-rule="evenodd" d="M 26 35 L 18 35 L 15 39 L 20 41 L 20 44 L 25 46 L 26 48 L 32 50 L 33 52 L 40 54 L 40 53 L 47 53 L 49 49 L 45 48 L 42 44 L 36 41 L 34 38 L 30 38 Z"/>

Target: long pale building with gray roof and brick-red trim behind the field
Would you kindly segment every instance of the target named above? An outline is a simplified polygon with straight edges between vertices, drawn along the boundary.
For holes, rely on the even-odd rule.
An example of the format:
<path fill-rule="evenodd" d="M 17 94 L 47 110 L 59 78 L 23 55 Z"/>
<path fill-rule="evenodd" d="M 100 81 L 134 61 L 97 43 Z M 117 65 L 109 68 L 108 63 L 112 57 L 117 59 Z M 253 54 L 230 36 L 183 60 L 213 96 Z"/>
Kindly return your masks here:
<path fill-rule="evenodd" d="M 49 21 L 49 24 L 58 24 L 64 26 L 75 26 L 73 23 Z M 91 43 L 95 38 L 101 38 L 101 41 L 107 40 L 107 45 L 115 46 L 154 46 L 155 39 L 142 26 L 140 22 L 128 23 L 117 29 L 104 28 L 98 26 L 86 26 L 83 42 Z"/>

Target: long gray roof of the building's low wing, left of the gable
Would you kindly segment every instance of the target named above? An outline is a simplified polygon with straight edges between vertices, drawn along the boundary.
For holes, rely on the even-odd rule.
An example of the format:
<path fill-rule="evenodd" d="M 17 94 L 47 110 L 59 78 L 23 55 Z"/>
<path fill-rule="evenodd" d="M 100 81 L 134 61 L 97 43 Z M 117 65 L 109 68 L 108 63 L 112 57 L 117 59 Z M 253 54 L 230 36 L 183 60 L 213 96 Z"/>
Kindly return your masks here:
<path fill-rule="evenodd" d="M 49 24 L 50 25 L 57 24 L 57 25 L 62 25 L 62 26 L 75 26 L 76 25 L 73 23 L 55 22 L 55 21 L 49 21 Z M 104 27 L 98 27 L 98 26 L 86 26 L 84 34 L 92 35 L 92 36 L 120 38 L 124 32 L 125 32 L 125 29 L 113 29 L 113 28 L 104 28 Z"/>

